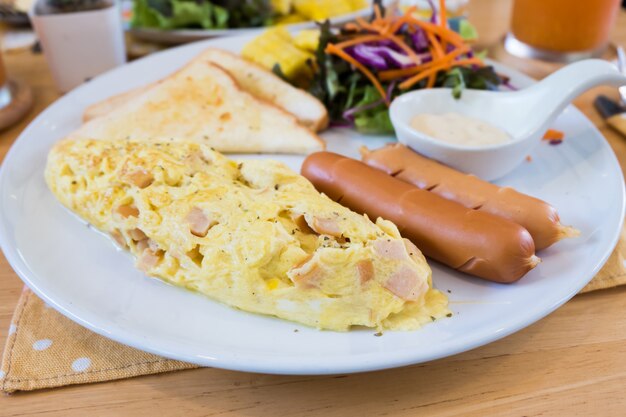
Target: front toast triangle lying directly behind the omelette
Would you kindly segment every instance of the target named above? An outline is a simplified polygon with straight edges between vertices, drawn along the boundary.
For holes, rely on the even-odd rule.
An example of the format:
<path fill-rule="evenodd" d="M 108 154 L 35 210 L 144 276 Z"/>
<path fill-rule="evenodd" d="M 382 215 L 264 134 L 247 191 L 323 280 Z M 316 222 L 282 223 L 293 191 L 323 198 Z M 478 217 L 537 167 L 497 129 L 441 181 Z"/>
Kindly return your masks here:
<path fill-rule="evenodd" d="M 296 118 L 243 91 L 221 67 L 194 60 L 70 138 L 194 140 L 221 152 L 308 154 L 324 142 Z"/>

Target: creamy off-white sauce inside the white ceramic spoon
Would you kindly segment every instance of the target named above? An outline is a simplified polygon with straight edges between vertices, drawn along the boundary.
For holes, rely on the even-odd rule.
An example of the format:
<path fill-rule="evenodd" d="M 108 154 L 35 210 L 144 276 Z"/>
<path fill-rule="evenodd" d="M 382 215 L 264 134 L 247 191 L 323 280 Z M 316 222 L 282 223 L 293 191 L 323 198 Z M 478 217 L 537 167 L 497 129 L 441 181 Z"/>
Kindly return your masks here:
<path fill-rule="evenodd" d="M 453 145 L 478 147 L 511 140 L 504 130 L 459 113 L 422 113 L 411 119 L 411 127 L 434 139 Z"/>

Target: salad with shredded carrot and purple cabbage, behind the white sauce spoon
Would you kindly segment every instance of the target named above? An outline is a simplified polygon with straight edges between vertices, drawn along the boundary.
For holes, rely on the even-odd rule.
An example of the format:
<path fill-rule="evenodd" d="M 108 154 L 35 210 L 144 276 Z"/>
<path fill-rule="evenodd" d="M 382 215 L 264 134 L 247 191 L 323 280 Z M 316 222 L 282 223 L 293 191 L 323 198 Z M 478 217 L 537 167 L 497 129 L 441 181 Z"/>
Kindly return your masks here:
<path fill-rule="evenodd" d="M 495 90 L 505 82 L 472 50 L 463 30 L 451 28 L 444 0 L 438 11 L 433 6 L 429 20 L 414 12 L 410 7 L 385 13 L 377 1 L 370 19 L 357 18 L 338 31 L 328 22 L 320 24 L 315 45 L 310 34 L 298 34 L 291 45 L 274 39 L 276 52 L 263 48 L 263 37 L 273 32 L 253 40 L 243 55 L 307 89 L 324 103 L 333 125 L 362 133 L 393 132 L 389 104 L 407 91 L 449 87 L 458 98 L 465 88 Z"/>

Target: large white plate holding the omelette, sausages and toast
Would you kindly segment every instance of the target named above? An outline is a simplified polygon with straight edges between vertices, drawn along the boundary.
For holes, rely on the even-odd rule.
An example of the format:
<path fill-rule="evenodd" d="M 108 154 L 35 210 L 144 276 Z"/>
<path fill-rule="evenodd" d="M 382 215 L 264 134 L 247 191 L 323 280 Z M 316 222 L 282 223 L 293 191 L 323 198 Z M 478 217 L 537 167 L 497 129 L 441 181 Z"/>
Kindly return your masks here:
<path fill-rule="evenodd" d="M 0 173 L 0 243 L 19 276 L 52 307 L 111 339 L 200 365 L 283 374 L 360 372 L 453 355 L 528 326 L 576 294 L 614 248 L 624 214 L 622 172 L 600 132 L 569 107 L 554 126 L 565 131 L 564 143 L 542 144 L 532 162 L 500 183 L 551 202 L 582 237 L 541 252 L 543 263 L 514 285 L 430 262 L 435 285 L 450 292 L 450 319 L 382 337 L 374 330 L 317 331 L 145 277 L 128 255 L 54 199 L 43 180 L 48 149 L 78 127 L 88 104 L 161 78 L 206 46 L 238 51 L 249 39 L 190 44 L 130 63 L 62 97 L 22 133 Z M 518 86 L 531 82 L 500 70 Z M 531 111 L 536 109 L 520 109 L 520 117 Z M 324 137 L 330 150 L 355 157 L 361 144 L 376 147 L 390 139 L 347 130 Z M 295 169 L 302 161 L 269 157 Z"/>

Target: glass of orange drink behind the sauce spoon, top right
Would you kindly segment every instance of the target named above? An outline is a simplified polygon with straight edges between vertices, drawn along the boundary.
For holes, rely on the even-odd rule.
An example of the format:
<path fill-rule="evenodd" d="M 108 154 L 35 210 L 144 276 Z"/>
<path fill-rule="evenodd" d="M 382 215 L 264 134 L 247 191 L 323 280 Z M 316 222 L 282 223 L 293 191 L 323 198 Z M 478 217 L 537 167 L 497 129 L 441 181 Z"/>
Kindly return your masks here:
<path fill-rule="evenodd" d="M 600 56 L 621 0 L 515 0 L 505 47 L 513 55 L 571 62 Z"/>

